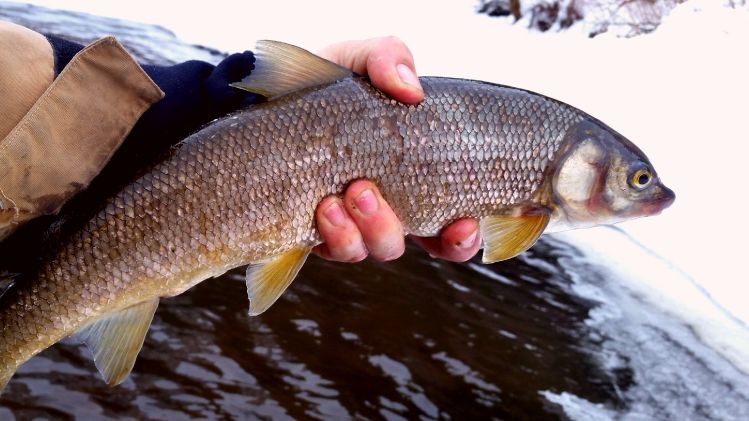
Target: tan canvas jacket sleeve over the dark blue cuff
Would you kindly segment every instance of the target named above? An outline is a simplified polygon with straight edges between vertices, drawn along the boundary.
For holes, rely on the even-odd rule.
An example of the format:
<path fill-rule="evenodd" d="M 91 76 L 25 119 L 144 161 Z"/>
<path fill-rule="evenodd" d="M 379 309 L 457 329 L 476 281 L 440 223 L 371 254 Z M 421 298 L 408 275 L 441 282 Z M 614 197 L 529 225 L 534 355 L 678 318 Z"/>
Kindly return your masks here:
<path fill-rule="evenodd" d="M 164 95 L 113 37 L 81 50 L 54 81 L 44 37 L 0 22 L 0 47 L 6 44 L 16 48 L 0 58 L 11 70 L 0 75 L 0 112 L 18 121 L 0 125 L 0 240 L 85 189 Z"/>

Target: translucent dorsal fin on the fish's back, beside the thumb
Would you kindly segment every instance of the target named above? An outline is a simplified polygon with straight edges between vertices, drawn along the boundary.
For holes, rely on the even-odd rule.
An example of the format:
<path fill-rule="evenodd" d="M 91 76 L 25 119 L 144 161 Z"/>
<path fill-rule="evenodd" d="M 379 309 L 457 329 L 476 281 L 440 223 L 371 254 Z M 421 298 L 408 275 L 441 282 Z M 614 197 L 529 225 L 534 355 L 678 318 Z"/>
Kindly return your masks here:
<path fill-rule="evenodd" d="M 268 98 L 354 76 L 354 72 L 307 50 L 279 41 L 255 45 L 255 68 L 231 86 Z"/>

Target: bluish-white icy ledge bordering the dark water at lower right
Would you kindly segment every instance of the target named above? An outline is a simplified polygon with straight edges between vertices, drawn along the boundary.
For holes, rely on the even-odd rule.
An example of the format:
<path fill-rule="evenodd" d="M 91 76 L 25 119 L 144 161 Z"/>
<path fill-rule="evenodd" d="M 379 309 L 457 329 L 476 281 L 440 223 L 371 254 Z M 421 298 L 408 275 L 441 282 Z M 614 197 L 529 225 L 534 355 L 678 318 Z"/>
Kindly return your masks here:
<path fill-rule="evenodd" d="M 580 232 L 574 242 L 586 249 L 582 257 L 565 250 L 572 233 L 556 236 L 570 294 L 597 303 L 580 344 L 616 379 L 627 405 L 612 408 L 563 390 L 540 394 L 575 420 L 749 419 L 749 376 L 739 366 L 749 349 L 743 327 L 619 230 Z M 592 252 L 600 244 L 638 265 L 623 268 L 618 256 Z"/>

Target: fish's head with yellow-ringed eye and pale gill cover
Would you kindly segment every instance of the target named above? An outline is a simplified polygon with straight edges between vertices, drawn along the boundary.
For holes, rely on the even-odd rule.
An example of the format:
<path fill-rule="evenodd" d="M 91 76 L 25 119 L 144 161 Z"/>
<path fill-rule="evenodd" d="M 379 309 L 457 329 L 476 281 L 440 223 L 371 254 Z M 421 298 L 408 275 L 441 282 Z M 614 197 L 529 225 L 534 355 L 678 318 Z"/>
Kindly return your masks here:
<path fill-rule="evenodd" d="M 568 228 L 656 215 L 676 197 L 637 146 L 594 119 L 567 131 L 551 184 Z"/>

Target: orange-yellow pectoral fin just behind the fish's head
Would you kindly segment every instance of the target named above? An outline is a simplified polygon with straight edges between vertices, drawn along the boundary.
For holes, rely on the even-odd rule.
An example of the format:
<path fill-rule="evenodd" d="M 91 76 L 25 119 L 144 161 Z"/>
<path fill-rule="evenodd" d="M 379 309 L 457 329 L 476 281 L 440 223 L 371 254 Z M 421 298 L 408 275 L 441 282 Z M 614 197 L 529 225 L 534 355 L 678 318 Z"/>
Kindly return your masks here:
<path fill-rule="evenodd" d="M 548 212 L 521 216 L 487 216 L 481 220 L 484 263 L 511 259 L 528 250 L 549 223 Z"/>

